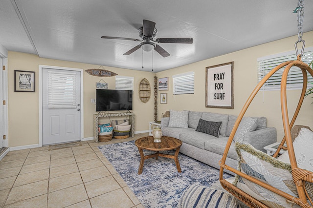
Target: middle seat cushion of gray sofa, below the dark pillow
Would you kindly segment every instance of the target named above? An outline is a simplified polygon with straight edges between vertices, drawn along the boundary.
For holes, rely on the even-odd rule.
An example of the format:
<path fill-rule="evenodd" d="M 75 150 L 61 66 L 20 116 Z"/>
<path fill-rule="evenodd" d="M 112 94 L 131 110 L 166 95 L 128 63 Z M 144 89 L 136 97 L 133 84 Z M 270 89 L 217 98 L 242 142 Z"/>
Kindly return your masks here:
<path fill-rule="evenodd" d="M 183 143 L 204 149 L 206 141 L 217 139 L 216 137 L 196 131 L 194 128 L 184 129 L 179 135 L 179 139 Z"/>

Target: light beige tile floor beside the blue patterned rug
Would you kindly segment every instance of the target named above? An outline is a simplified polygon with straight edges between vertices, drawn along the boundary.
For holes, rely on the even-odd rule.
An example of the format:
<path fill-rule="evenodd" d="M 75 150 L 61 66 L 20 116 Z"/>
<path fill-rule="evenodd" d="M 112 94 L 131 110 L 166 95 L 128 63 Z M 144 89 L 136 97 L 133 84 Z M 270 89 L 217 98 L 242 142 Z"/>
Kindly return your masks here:
<path fill-rule="evenodd" d="M 97 148 L 143 136 L 148 133 L 56 150 L 43 146 L 8 152 L 0 161 L 0 208 L 143 208 Z"/>

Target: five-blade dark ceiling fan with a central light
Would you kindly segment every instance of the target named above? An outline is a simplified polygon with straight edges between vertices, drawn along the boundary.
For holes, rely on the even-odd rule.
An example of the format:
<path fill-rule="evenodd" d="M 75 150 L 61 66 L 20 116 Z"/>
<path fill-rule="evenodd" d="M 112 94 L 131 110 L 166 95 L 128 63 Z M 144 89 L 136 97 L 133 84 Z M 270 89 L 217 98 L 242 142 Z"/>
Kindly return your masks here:
<path fill-rule="evenodd" d="M 143 20 L 143 26 L 139 28 L 139 37 L 142 40 L 139 39 L 133 39 L 133 38 L 120 38 L 120 37 L 110 37 L 110 36 L 102 36 L 101 38 L 104 39 L 117 39 L 117 40 L 127 40 L 127 41 L 139 41 L 141 42 L 139 45 L 136 45 L 131 50 L 127 51 L 123 55 L 130 55 L 134 53 L 139 48 L 142 48 L 144 51 L 152 51 L 153 49 L 156 50 L 157 53 L 159 53 L 162 57 L 168 57 L 170 54 L 164 50 L 161 46 L 154 43 L 186 43 L 191 44 L 193 42 L 192 38 L 156 38 L 156 22 L 149 21 L 149 20 Z M 154 40 L 155 39 L 155 40 Z"/>

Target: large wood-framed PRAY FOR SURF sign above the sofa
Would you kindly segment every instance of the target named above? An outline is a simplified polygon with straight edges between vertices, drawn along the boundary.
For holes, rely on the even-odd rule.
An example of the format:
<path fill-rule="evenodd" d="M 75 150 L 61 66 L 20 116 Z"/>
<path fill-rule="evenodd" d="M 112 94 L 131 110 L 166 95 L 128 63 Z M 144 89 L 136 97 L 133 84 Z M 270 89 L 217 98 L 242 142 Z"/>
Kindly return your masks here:
<path fill-rule="evenodd" d="M 205 107 L 234 109 L 234 62 L 205 70 Z"/>

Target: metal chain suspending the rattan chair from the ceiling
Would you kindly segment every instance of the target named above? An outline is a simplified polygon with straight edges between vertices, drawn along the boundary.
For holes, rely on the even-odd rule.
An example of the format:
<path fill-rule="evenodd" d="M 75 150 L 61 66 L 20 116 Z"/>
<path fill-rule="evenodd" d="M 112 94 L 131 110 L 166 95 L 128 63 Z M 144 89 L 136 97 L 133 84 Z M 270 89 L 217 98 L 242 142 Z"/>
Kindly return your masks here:
<path fill-rule="evenodd" d="M 305 41 L 302 40 L 302 22 L 303 22 L 303 16 L 304 16 L 304 0 L 299 0 L 298 2 L 298 7 L 295 8 L 295 10 L 293 11 L 293 13 L 297 13 L 297 21 L 298 21 L 298 41 L 294 43 L 294 48 L 295 48 L 295 52 L 296 52 L 296 56 L 303 56 L 303 52 L 304 52 L 304 46 L 305 46 Z M 301 49 L 301 53 L 299 54 L 298 51 L 298 46 L 297 44 L 299 42 L 302 42 L 302 49 Z"/>

